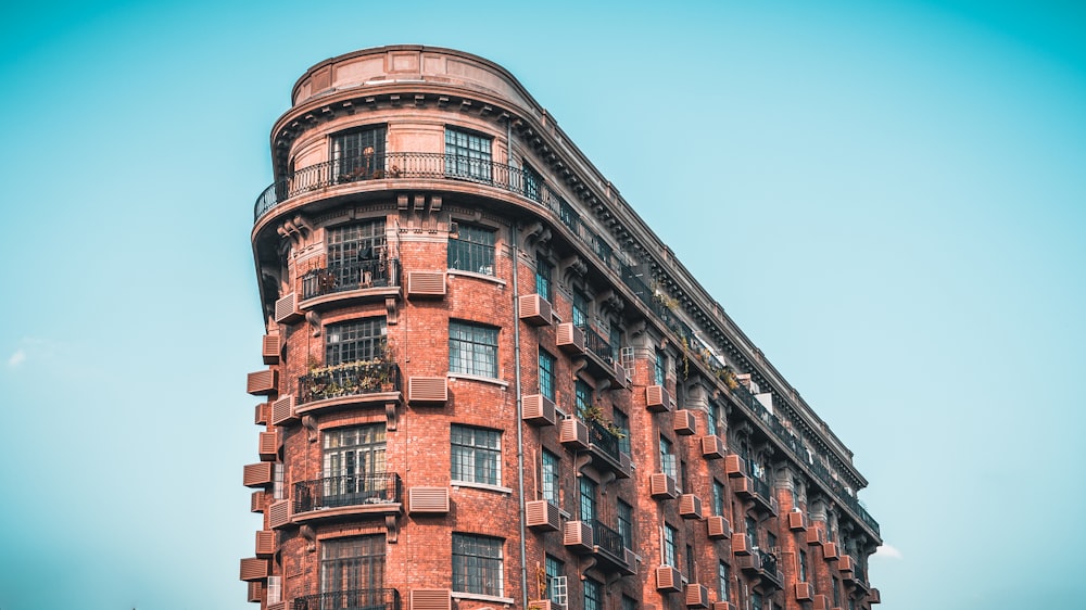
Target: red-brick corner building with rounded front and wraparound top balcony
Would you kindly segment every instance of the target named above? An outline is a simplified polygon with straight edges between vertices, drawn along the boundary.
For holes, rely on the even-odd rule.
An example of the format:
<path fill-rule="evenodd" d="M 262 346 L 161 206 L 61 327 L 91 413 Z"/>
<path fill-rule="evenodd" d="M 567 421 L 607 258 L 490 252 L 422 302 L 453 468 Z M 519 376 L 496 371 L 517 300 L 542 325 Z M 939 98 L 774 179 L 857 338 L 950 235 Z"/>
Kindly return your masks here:
<path fill-rule="evenodd" d="M 879 601 L 851 453 L 508 72 L 384 47 L 291 99 L 252 231 L 250 601 Z"/>

